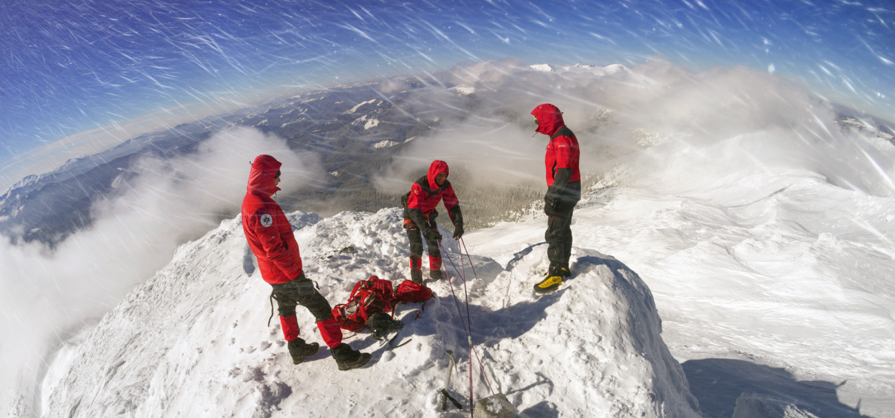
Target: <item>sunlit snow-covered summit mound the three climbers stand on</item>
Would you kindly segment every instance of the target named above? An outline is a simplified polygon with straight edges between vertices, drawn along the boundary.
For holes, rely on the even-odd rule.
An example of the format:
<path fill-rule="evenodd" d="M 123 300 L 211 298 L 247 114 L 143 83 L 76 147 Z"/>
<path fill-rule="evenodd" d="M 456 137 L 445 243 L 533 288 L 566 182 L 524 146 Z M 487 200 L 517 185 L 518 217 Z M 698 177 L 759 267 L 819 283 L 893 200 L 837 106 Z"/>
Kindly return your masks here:
<path fill-rule="evenodd" d="M 289 218 L 306 275 L 331 304 L 372 274 L 396 284 L 405 279 L 409 253 L 398 209 Z M 489 239 L 500 237 L 478 230 L 465 238 Z M 468 416 L 449 403 L 442 411 L 438 392 L 445 350 L 452 350 L 457 370 L 449 391 L 469 405 L 469 320 L 474 397 L 502 392 L 519 416 L 700 416 L 683 369 L 661 339 L 652 293 L 624 263 L 576 247 L 574 279 L 534 297 L 534 275 L 547 264 L 545 244 L 507 255 L 506 265 L 474 254 L 461 264 L 456 242 L 444 241 L 451 280 L 430 282 L 436 296 L 425 305 L 398 307 L 405 328 L 396 344 L 406 344 L 389 350 L 366 331 L 346 333 L 345 342 L 373 359 L 339 372 L 325 347 L 292 364 L 276 316 L 268 326 L 270 288 L 255 269 L 241 222 L 222 222 L 180 247 L 98 326 L 56 352 L 41 414 Z M 298 315 L 303 338 L 322 343 L 311 315 L 301 308 Z"/>

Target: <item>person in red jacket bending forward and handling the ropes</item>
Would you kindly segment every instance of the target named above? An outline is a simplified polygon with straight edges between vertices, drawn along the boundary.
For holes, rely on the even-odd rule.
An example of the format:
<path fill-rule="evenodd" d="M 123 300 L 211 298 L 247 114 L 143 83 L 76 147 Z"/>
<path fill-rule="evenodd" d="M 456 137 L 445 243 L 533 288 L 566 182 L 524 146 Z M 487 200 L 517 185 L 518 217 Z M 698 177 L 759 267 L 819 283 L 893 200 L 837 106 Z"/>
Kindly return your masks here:
<path fill-rule="evenodd" d="M 429 277 L 441 280 L 441 251 L 439 250 L 439 226 L 435 218 L 439 213 L 435 206 L 444 199 L 447 216 L 454 223 L 454 239 L 463 236 L 463 213 L 447 181 L 447 163 L 436 160 L 429 165 L 429 172 L 413 182 L 410 193 L 405 195 L 404 227 L 410 240 L 410 279 L 422 284 L 422 237 L 429 247 Z M 422 237 L 421 237 L 422 234 Z"/>

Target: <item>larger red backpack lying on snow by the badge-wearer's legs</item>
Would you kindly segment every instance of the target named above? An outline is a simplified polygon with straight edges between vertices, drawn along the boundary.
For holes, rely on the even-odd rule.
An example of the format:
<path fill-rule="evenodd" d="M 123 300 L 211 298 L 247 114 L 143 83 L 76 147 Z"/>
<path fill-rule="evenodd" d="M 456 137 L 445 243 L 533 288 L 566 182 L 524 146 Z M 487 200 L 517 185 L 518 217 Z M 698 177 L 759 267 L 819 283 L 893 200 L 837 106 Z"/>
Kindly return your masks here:
<path fill-rule="evenodd" d="M 398 302 L 390 280 L 371 276 L 354 285 L 348 302 L 336 305 L 333 316 L 343 330 L 361 330 L 373 314 L 391 312 Z"/>

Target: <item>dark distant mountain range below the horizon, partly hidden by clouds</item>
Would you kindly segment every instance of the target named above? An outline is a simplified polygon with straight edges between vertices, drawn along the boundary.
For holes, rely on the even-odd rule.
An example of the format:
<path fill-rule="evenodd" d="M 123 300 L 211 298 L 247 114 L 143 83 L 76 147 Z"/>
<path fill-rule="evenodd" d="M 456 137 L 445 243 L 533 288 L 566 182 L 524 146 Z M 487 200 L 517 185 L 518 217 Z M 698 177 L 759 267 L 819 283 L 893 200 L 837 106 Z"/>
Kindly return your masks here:
<path fill-rule="evenodd" d="M 529 68 L 587 72 L 598 77 L 630 73 L 622 65 L 539 64 Z M 276 134 L 294 150 L 320 155 L 328 179 L 320 187 L 278 196 L 287 210 L 335 213 L 396 206 L 397 195 L 377 191 L 371 185 L 371 174 L 391 165 L 409 141 L 441 129 L 442 121 L 448 117 L 468 118 L 482 105 L 472 86 L 439 84 L 443 81 L 438 80 L 431 78 L 429 83 L 421 78 L 400 77 L 306 92 L 143 134 L 97 155 L 69 160 L 55 171 L 22 179 L 0 196 L 0 234 L 12 238 L 14 243 L 40 241 L 53 247 L 72 232 L 90 225 L 92 203 L 98 197 L 119 193 L 116 184 L 138 175 L 132 167 L 140 158 L 189 155 L 213 133 L 231 126 Z M 426 88 L 431 95 L 413 94 Z M 878 136 L 895 144 L 891 124 L 847 108 L 840 108 L 840 114 L 843 129 L 875 130 Z M 453 180 L 455 184 L 457 180 L 461 179 Z M 504 210 L 518 210 L 519 202 L 532 202 L 542 193 L 541 189 L 516 190 L 511 199 L 516 205 L 507 205 Z M 232 215 L 226 213 L 222 217 Z"/>

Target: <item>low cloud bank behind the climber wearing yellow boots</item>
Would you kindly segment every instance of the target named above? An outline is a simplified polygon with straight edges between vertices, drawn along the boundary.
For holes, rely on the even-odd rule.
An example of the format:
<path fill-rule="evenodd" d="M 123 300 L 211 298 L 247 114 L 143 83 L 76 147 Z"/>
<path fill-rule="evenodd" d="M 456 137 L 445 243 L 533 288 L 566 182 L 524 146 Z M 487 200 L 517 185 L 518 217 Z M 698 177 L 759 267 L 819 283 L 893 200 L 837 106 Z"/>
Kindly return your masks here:
<path fill-rule="evenodd" d="M 875 194 L 895 189 L 888 174 L 895 166 L 891 144 L 843 130 L 833 104 L 767 71 L 695 72 L 661 57 L 633 68 L 533 71 L 508 59 L 457 67 L 434 79 L 421 78 L 431 87 L 414 91 L 408 102 L 443 104 L 439 130 L 414 138 L 376 179 L 383 191 L 409 188 L 405 179 L 422 175 L 436 159 L 482 183 L 542 179 L 548 138 L 533 136 L 529 114 L 541 103 L 563 112 L 581 144 L 582 171 L 615 184 L 673 186 L 731 169 L 795 169 Z M 472 95 L 462 93 L 473 88 Z M 880 169 L 867 171 L 867 163 Z"/>

